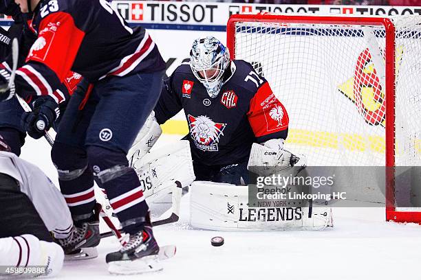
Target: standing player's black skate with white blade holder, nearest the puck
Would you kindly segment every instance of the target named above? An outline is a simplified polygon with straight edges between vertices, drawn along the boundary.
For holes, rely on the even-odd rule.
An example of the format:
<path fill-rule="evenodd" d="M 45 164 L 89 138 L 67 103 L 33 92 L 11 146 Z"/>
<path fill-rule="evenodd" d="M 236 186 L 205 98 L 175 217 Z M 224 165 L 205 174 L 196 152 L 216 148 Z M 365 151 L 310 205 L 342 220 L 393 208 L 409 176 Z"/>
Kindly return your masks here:
<path fill-rule="evenodd" d="M 144 272 L 162 270 L 159 262 L 158 246 L 153 237 L 151 226 L 144 226 L 144 230 L 130 235 L 129 242 L 120 250 L 109 253 L 105 259 L 108 271 L 116 275 L 133 275 Z"/>

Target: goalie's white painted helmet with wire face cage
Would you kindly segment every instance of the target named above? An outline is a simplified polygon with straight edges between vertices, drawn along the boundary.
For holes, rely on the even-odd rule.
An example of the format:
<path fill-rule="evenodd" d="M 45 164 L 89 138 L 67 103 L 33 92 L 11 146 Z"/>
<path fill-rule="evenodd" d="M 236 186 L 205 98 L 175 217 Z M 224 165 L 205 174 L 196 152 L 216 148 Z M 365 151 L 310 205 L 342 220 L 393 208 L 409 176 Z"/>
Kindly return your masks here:
<path fill-rule="evenodd" d="M 222 88 L 222 75 L 230 64 L 230 52 L 213 36 L 198 38 L 190 51 L 191 71 L 215 98 Z"/>

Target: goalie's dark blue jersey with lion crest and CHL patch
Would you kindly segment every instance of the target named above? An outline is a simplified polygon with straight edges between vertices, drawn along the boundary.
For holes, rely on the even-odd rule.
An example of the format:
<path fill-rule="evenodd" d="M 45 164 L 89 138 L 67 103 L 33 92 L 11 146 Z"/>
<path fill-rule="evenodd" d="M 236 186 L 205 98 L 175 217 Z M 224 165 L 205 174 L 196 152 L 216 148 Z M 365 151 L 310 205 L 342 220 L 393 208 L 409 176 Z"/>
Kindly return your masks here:
<path fill-rule="evenodd" d="M 268 81 L 244 60 L 233 60 L 215 98 L 195 78 L 188 62 L 164 81 L 155 106 L 159 124 L 184 109 L 193 161 L 229 165 L 248 160 L 252 143 L 288 135 L 288 113 Z"/>

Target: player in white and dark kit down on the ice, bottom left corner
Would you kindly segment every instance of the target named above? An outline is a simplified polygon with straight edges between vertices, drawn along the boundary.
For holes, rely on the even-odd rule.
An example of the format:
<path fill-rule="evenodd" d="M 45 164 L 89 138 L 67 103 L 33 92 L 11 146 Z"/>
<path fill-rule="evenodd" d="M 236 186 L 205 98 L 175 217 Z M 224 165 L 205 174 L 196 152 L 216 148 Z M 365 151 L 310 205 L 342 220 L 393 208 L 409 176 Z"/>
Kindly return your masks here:
<path fill-rule="evenodd" d="M 38 167 L 10 151 L 0 135 L 0 277 L 56 275 L 64 253 L 50 231 L 56 239 L 70 235 L 69 209 Z"/>

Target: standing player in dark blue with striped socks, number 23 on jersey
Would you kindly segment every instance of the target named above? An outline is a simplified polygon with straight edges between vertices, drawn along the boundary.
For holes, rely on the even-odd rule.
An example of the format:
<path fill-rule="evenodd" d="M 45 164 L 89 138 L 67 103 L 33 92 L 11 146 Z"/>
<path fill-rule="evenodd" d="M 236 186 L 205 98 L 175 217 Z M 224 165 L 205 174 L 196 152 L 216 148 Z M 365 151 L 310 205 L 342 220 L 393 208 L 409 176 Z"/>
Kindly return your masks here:
<path fill-rule="evenodd" d="M 82 91 L 72 95 L 52 148 L 61 191 L 76 226 L 62 244 L 65 252 L 100 241 L 93 212 L 95 175 L 122 228 L 130 234 L 125 246 L 107 255 L 109 271 L 159 270 L 159 247 L 148 207 L 138 176 L 126 159 L 160 95 L 165 65 L 158 47 L 146 30 L 129 27 L 105 0 L 16 2 L 22 12 L 34 13 L 30 27 L 38 38 L 26 64 L 17 71 L 14 88 L 22 97 L 45 97 L 26 125 L 39 135 L 52 126 L 57 106 L 52 93 L 70 69 L 90 83 L 85 95 Z M 3 84 L 9 76 L 0 76 Z M 0 99 L 10 99 L 14 88 Z"/>

